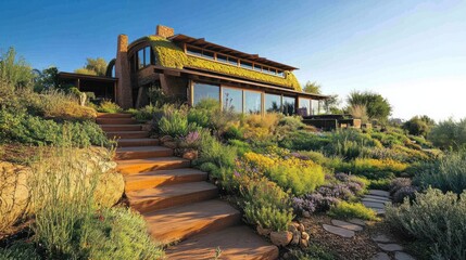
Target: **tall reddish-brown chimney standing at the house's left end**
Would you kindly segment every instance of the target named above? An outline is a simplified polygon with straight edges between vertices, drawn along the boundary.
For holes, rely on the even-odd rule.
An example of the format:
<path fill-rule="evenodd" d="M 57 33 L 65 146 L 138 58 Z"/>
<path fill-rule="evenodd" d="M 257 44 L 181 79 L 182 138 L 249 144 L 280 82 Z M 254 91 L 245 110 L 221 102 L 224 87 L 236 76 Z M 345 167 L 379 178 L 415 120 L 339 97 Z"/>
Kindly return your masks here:
<path fill-rule="evenodd" d="M 115 93 L 116 103 L 125 109 L 133 107 L 131 79 L 129 75 L 128 61 L 128 36 L 126 35 L 118 35 L 115 77 L 118 78 Z"/>

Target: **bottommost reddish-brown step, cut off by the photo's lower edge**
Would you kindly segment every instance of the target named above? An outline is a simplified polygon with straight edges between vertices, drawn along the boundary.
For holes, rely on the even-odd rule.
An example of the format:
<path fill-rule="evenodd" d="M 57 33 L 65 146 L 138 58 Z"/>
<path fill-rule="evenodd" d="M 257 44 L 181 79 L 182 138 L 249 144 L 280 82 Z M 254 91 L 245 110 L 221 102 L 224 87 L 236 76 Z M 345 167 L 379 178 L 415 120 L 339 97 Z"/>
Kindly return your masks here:
<path fill-rule="evenodd" d="M 273 260 L 278 259 L 278 248 L 248 226 L 231 226 L 218 232 L 191 237 L 167 248 L 167 259 L 211 260 L 219 248 L 219 259 Z"/>

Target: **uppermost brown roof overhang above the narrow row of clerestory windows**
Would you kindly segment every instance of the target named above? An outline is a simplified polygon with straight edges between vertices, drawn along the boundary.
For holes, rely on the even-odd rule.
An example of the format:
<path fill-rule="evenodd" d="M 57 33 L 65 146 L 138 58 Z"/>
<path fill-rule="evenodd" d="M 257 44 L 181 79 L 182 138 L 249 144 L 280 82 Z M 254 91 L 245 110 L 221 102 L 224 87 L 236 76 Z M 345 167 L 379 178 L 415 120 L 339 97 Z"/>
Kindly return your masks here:
<path fill-rule="evenodd" d="M 257 54 L 249 54 L 249 53 L 244 53 L 244 52 L 240 52 L 227 47 L 223 47 L 223 46 L 218 46 L 212 42 L 206 41 L 204 38 L 193 38 L 190 36 L 186 36 L 186 35 L 175 35 L 168 38 L 171 41 L 175 42 L 175 43 L 188 43 L 194 47 L 199 47 L 199 48 L 204 48 L 207 50 L 212 50 L 215 52 L 219 52 L 219 53 L 224 53 L 227 55 L 232 55 L 239 58 L 244 58 L 244 60 L 249 60 L 252 62 L 257 62 L 264 65 L 269 65 L 272 67 L 276 67 L 279 69 L 284 69 L 284 70 L 294 70 L 298 69 L 297 67 L 292 67 L 290 65 L 286 65 L 282 63 L 278 63 L 278 62 L 274 62 L 270 60 L 267 60 L 265 57 L 261 57 Z"/>

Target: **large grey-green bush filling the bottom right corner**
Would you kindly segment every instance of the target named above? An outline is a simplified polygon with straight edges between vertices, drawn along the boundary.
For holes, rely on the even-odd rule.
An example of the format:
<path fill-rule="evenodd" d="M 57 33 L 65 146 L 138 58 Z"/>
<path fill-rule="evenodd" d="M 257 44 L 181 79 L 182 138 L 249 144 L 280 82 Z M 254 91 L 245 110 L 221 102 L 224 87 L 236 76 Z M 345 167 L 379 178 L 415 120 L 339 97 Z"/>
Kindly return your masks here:
<path fill-rule="evenodd" d="M 387 207 L 386 219 L 393 229 L 401 230 L 432 250 L 434 259 L 466 259 L 466 193 L 443 194 L 428 188 L 400 207 Z M 427 248 L 427 247 L 426 247 Z"/>

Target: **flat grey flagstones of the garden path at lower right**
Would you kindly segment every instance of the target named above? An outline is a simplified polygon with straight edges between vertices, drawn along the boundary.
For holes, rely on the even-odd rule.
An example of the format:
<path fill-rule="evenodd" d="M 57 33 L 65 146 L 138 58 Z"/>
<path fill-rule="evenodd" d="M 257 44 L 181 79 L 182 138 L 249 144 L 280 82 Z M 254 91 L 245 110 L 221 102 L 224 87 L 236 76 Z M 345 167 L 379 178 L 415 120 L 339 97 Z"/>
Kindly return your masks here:
<path fill-rule="evenodd" d="M 363 196 L 362 203 L 367 208 L 375 210 L 378 214 L 385 214 L 385 205 L 391 202 L 390 194 L 386 191 L 369 190 L 369 193 Z M 366 221 L 361 219 L 350 219 L 348 221 L 331 220 L 330 224 L 323 224 L 324 230 L 335 235 L 351 238 L 357 232 L 364 230 Z M 395 240 L 385 234 L 377 234 L 371 237 L 380 249 L 373 260 L 414 260 L 412 256 L 403 252 L 404 248 Z M 393 256 L 393 257 L 391 257 Z"/>

